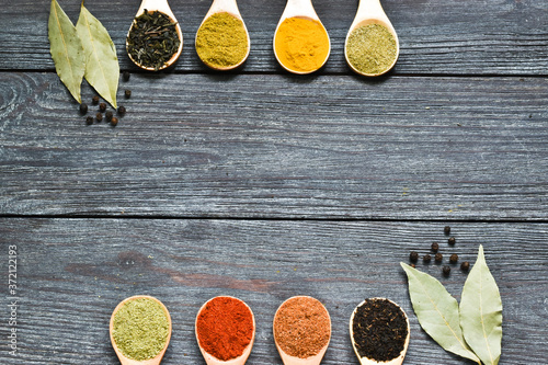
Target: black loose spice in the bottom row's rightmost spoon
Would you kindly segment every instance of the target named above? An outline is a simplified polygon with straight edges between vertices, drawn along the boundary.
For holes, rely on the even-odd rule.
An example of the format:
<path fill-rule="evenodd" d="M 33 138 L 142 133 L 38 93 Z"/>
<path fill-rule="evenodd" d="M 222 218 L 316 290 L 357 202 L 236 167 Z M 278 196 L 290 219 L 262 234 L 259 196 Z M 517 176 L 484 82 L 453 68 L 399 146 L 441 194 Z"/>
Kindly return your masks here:
<path fill-rule="evenodd" d="M 352 334 L 361 357 L 393 360 L 403 351 L 408 324 L 403 311 L 387 299 L 366 299 L 356 308 Z"/>

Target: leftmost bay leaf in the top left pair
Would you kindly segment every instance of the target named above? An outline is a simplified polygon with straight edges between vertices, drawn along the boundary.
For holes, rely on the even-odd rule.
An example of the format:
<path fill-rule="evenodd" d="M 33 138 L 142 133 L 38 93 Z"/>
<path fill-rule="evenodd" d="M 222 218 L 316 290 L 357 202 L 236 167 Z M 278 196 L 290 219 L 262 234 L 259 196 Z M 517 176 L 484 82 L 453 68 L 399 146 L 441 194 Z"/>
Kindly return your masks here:
<path fill-rule="evenodd" d="M 56 0 L 52 0 L 48 21 L 49 52 L 59 79 L 72 96 L 82 102 L 80 85 L 85 70 L 85 56 L 78 32 Z"/>

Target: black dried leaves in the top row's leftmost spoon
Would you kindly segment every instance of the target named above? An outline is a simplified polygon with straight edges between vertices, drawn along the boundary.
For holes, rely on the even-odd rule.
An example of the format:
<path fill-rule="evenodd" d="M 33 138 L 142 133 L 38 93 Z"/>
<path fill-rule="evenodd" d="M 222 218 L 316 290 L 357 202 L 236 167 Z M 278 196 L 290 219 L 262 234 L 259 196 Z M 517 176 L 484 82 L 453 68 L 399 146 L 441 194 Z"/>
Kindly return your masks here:
<path fill-rule="evenodd" d="M 137 16 L 127 35 L 127 53 L 144 67 L 159 70 L 179 50 L 181 39 L 176 23 L 162 12 L 145 12 Z"/>

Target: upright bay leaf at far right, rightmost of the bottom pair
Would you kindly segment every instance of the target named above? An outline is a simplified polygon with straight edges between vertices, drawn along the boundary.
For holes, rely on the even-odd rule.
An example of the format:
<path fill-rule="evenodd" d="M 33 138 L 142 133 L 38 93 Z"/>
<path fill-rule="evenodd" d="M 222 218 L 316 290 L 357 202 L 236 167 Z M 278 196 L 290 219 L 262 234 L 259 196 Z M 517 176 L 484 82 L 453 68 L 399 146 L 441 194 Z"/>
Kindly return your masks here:
<path fill-rule="evenodd" d="M 478 357 L 488 365 L 499 364 L 502 341 L 502 300 L 487 266 L 483 247 L 468 274 L 460 299 L 460 327 Z"/>

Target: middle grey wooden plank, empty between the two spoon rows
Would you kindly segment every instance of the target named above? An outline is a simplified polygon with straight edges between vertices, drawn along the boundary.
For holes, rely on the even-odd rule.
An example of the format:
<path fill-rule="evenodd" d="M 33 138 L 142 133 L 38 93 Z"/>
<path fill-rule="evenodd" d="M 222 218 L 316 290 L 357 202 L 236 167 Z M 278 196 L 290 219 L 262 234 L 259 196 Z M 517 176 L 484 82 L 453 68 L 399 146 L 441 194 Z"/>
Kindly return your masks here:
<path fill-rule="evenodd" d="M 547 218 L 546 79 L 128 84 L 116 128 L 85 126 L 55 75 L 0 73 L 1 214 Z"/>

